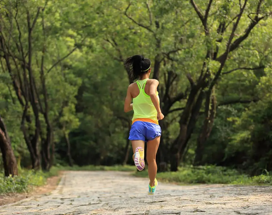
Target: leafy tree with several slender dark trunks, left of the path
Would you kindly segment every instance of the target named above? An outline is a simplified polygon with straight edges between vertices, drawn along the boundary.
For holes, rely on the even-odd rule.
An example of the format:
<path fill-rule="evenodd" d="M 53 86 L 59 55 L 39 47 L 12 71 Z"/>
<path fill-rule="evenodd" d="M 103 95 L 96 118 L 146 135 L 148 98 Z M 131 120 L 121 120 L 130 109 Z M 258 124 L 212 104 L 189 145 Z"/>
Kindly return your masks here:
<path fill-rule="evenodd" d="M 54 31 L 59 24 L 57 20 L 52 24 L 49 16 L 46 16 L 54 7 L 52 1 L 3 1 L 2 4 L 6 8 L 6 16 L 0 15 L 0 57 L 4 60 L 1 61 L 2 68 L 11 74 L 13 88 L 23 108 L 21 129 L 30 151 L 32 167 L 37 169 L 41 164 L 44 170 L 48 170 L 52 157 L 50 147 L 53 144 L 48 74 L 77 47 L 73 44 L 64 56 L 52 55 L 54 47 L 49 39 L 55 35 Z M 55 37 L 55 41 L 58 39 Z M 70 49 L 69 45 L 67 49 Z M 52 63 L 53 56 L 57 59 Z"/>

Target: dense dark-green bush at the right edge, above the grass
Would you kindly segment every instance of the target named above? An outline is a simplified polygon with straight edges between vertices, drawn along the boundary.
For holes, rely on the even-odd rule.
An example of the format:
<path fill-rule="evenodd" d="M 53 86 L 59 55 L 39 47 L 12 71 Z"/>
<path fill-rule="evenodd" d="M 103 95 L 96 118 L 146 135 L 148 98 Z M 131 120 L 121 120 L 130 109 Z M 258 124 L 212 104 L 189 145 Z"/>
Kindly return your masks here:
<path fill-rule="evenodd" d="M 271 69 L 265 70 L 257 86 L 260 101 L 251 103 L 235 122 L 236 133 L 226 148 L 226 158 L 236 167 L 248 169 L 250 174 L 260 174 L 263 169 L 271 169 Z"/>

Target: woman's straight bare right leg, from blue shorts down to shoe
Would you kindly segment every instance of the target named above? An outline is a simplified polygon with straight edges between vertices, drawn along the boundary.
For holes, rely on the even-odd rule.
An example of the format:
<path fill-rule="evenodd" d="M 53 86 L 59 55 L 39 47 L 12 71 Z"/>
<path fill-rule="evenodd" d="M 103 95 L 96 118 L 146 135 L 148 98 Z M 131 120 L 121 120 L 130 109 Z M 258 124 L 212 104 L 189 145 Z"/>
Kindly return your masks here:
<path fill-rule="evenodd" d="M 146 160 L 148 163 L 148 175 L 150 179 L 150 186 L 155 186 L 155 178 L 157 174 L 156 154 L 160 144 L 160 136 L 147 142 Z"/>

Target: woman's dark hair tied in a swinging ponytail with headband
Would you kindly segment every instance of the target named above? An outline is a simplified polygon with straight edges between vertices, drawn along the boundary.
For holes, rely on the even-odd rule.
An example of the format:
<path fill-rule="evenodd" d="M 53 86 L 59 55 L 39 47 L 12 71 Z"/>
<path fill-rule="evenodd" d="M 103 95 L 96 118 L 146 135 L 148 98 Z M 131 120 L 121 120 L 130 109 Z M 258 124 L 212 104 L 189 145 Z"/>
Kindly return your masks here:
<path fill-rule="evenodd" d="M 132 81 L 142 77 L 151 68 L 151 61 L 143 55 L 134 55 L 125 60 L 124 65 Z"/>

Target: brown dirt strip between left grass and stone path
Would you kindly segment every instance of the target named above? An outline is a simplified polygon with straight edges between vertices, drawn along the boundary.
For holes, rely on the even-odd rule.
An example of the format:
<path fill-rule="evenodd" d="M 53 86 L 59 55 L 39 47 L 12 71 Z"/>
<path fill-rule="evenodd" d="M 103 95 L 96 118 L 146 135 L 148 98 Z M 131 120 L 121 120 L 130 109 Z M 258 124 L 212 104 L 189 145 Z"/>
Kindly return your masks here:
<path fill-rule="evenodd" d="M 24 198 L 31 197 L 33 195 L 49 194 L 55 190 L 63 175 L 63 171 L 59 171 L 57 176 L 47 178 L 46 184 L 40 187 L 34 187 L 27 193 L 11 193 L 0 196 L 0 206 L 5 204 L 15 203 Z"/>

